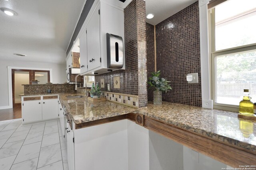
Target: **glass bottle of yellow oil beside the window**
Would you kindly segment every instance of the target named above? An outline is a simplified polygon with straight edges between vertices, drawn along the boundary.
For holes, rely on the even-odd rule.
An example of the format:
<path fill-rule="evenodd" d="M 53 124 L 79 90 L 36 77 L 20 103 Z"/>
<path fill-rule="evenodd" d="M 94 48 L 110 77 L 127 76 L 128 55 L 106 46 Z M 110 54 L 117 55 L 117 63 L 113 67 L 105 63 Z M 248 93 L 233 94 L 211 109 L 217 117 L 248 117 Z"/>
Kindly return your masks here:
<path fill-rule="evenodd" d="M 253 115 L 253 103 L 249 96 L 249 90 L 244 89 L 243 100 L 239 103 L 239 113 L 243 115 Z"/>

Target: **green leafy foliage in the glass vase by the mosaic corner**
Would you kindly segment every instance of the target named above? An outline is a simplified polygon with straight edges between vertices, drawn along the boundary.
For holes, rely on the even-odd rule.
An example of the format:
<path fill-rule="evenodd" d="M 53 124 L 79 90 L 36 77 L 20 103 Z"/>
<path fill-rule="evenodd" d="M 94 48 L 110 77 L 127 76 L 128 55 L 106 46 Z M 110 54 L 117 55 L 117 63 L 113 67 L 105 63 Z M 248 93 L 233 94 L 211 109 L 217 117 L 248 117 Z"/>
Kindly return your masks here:
<path fill-rule="evenodd" d="M 151 75 L 152 77 L 148 80 L 150 87 L 156 88 L 162 92 L 167 92 L 172 89 L 170 84 L 168 84 L 170 81 L 165 80 L 165 78 L 160 78 L 160 71 L 152 72 Z"/>

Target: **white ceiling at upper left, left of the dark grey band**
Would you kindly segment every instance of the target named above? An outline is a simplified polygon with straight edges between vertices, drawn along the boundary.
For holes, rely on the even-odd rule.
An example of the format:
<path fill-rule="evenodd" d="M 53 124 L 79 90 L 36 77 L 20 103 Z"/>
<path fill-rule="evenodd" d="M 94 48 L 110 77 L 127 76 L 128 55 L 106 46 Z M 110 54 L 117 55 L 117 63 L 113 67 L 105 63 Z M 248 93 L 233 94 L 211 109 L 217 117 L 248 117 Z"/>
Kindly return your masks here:
<path fill-rule="evenodd" d="M 0 60 L 65 63 L 66 49 L 86 0 L 0 0 Z M 21 53 L 26 57 L 18 57 Z"/>

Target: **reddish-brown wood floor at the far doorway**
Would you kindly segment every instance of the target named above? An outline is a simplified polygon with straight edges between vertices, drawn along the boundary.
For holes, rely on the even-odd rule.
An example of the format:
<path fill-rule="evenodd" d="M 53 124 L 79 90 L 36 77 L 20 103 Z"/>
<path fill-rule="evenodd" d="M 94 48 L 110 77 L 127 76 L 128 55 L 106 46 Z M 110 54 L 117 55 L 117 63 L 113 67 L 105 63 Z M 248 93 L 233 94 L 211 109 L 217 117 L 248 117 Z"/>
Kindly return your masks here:
<path fill-rule="evenodd" d="M 21 118 L 21 105 L 12 109 L 0 109 L 0 121 Z"/>

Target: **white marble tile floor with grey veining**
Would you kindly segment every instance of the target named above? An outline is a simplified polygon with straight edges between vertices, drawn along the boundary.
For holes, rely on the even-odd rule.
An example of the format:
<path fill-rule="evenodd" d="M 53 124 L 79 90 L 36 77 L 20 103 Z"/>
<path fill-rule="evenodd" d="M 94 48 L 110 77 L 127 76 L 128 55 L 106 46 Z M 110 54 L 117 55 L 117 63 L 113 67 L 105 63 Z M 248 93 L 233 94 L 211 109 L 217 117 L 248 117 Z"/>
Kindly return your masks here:
<path fill-rule="evenodd" d="M 60 121 L 0 121 L 0 170 L 68 170 Z"/>

